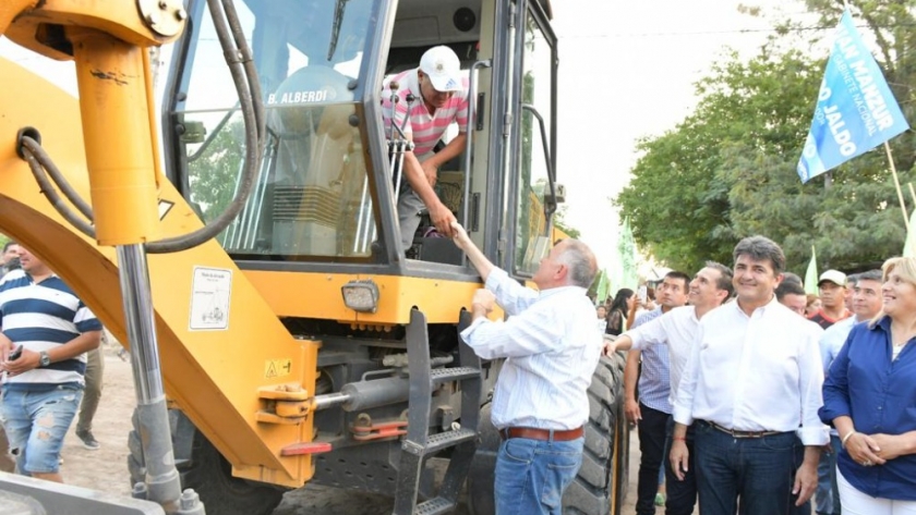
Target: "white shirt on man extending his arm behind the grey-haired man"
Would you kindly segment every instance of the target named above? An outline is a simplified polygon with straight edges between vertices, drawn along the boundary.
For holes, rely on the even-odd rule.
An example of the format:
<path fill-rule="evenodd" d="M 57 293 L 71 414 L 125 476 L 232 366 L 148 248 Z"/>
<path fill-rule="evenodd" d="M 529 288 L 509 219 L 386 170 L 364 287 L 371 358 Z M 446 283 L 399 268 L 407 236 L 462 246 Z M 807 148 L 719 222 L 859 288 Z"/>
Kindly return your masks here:
<path fill-rule="evenodd" d="M 653 345 L 667 345 L 671 364 L 671 403 L 677 398 L 677 387 L 690 359 L 700 320 L 694 306 L 680 306 L 661 317 L 624 333 L 632 340 L 632 348 L 642 351 Z"/>

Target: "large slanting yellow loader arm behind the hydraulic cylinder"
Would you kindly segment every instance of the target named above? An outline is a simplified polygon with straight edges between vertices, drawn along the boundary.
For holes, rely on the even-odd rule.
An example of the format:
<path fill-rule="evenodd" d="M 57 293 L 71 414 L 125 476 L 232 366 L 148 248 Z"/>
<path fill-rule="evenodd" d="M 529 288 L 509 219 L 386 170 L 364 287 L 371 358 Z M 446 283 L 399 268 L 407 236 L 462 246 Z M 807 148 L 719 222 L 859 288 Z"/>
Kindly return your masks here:
<path fill-rule="evenodd" d="M 120 2 L 114 2 L 120 3 Z M 88 177 L 76 100 L 0 58 L 0 232 L 31 248 L 125 341 L 118 269 L 110 247 L 72 230 L 40 194 L 15 155 L 23 126 L 40 131 L 43 145 L 74 189 L 88 196 Z M 112 152 L 121 149 L 111 148 Z M 168 181 L 159 196 L 174 203 L 160 222 L 164 235 L 184 234 L 201 222 Z M 129 206 L 124 207 L 129 209 Z M 232 274 L 227 330 L 193 330 L 190 312 L 195 267 Z M 149 256 L 156 330 L 167 393 L 244 477 L 301 486 L 312 476 L 310 456 L 280 457 L 286 445 L 312 440 L 312 419 L 299 426 L 255 421 L 257 390 L 296 381 L 314 392 L 317 342 L 297 341 L 272 306 L 216 242 L 180 254 Z M 290 375 L 264 377 L 263 364 L 289 359 Z"/>

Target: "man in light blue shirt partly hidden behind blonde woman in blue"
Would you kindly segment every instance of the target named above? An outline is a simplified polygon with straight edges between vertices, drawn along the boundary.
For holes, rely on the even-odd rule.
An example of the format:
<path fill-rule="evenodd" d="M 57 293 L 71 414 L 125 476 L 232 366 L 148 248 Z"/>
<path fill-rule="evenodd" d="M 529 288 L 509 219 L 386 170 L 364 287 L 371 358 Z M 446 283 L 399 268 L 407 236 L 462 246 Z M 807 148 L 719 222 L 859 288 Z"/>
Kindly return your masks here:
<path fill-rule="evenodd" d="M 856 323 L 875 318 L 881 311 L 881 270 L 869 270 L 849 275 L 847 281 L 853 289 L 853 316 L 834 323 L 823 332 L 820 339 L 821 359 L 823 359 L 823 376 L 827 378 L 833 358 L 840 354 L 846 336 Z M 840 453 L 840 436 L 835 429 L 830 430 L 830 445 L 833 452 L 821 454 L 818 467 L 817 513 L 818 515 L 840 515 L 840 491 L 836 487 L 836 455 Z M 827 481 L 823 481 L 823 478 Z"/>

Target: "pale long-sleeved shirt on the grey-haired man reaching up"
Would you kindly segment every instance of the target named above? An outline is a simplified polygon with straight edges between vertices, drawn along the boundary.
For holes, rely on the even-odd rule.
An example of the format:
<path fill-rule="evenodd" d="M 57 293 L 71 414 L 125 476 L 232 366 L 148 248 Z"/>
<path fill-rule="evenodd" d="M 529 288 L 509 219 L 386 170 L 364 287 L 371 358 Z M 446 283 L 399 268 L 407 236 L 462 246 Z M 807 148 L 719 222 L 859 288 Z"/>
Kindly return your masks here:
<path fill-rule="evenodd" d="M 493 425 L 567 430 L 586 424 L 587 390 L 603 346 L 586 289 L 539 293 L 499 269 L 490 273 L 486 289 L 509 318 L 478 318 L 461 338 L 482 358 L 506 358 L 493 395 Z"/>

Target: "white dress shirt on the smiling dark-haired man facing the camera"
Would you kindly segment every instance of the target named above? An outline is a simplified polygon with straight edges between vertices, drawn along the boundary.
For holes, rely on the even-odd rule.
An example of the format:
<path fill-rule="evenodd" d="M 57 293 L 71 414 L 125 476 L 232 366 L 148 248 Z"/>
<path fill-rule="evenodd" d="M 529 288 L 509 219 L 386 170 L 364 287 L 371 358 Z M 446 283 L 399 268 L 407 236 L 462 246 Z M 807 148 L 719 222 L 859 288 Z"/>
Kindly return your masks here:
<path fill-rule="evenodd" d="M 805 445 L 823 445 L 829 440 L 818 417 L 823 404 L 822 332 L 775 297 L 750 317 L 737 301 L 708 312 L 684 370 L 675 421 L 797 431 Z"/>

